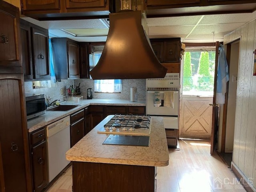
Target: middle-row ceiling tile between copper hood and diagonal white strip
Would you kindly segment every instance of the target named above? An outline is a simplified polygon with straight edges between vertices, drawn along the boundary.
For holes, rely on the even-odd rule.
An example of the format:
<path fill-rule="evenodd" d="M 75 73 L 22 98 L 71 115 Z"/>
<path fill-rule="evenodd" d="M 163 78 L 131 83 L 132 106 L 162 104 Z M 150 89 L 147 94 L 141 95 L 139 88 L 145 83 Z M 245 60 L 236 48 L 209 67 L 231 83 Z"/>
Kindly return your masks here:
<path fill-rule="evenodd" d="M 150 35 L 189 34 L 193 26 L 157 26 L 149 27 Z"/>

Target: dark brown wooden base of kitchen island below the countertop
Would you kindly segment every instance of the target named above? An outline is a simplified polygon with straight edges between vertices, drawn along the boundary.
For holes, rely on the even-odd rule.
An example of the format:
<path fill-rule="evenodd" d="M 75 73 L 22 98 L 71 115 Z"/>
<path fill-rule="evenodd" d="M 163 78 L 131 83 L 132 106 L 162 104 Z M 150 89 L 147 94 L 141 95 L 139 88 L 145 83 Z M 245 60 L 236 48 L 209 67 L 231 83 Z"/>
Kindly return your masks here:
<path fill-rule="evenodd" d="M 154 192 L 155 167 L 72 162 L 73 192 Z"/>

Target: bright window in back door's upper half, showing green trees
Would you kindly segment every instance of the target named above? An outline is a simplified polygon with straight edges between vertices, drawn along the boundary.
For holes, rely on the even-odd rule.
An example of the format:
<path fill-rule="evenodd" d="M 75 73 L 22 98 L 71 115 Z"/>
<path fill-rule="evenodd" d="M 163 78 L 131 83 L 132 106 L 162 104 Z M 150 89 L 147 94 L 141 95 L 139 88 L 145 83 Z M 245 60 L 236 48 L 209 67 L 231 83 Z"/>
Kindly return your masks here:
<path fill-rule="evenodd" d="M 213 96 L 214 69 L 215 48 L 185 51 L 182 94 Z"/>

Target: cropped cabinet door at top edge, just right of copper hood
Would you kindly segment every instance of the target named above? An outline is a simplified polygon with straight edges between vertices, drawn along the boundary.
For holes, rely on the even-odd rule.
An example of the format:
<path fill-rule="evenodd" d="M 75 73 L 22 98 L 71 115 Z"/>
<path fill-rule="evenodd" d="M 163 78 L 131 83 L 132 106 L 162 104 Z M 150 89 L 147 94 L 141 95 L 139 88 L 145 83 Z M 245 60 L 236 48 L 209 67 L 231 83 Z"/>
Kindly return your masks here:
<path fill-rule="evenodd" d="M 147 6 L 163 6 L 163 5 L 178 5 L 200 3 L 201 0 L 146 0 Z"/>

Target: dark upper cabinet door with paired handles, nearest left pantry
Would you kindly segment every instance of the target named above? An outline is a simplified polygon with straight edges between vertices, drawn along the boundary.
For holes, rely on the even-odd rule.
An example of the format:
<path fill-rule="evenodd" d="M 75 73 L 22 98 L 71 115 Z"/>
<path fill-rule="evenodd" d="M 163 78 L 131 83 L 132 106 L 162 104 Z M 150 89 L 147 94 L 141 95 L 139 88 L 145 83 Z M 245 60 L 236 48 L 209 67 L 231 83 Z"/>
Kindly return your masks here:
<path fill-rule="evenodd" d="M 34 79 L 50 80 L 48 30 L 32 28 Z"/>

